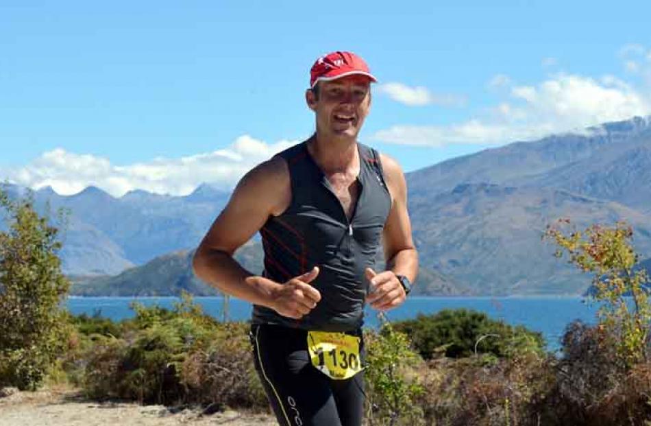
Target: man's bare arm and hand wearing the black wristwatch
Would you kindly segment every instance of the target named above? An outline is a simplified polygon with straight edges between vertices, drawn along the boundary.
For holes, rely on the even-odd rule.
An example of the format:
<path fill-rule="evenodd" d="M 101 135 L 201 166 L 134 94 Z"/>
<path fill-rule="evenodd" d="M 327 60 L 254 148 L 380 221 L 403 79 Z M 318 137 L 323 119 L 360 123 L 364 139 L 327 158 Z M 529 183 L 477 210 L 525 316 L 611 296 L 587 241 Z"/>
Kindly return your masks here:
<path fill-rule="evenodd" d="M 391 193 L 391 211 L 384 224 L 384 258 L 386 270 L 376 274 L 367 268 L 367 278 L 374 287 L 367 302 L 380 310 L 402 304 L 404 288 L 396 275 L 404 275 L 413 282 L 418 273 L 418 253 L 411 236 L 411 222 L 407 213 L 407 184 L 404 173 L 393 158 L 381 155 L 384 179 Z"/>

